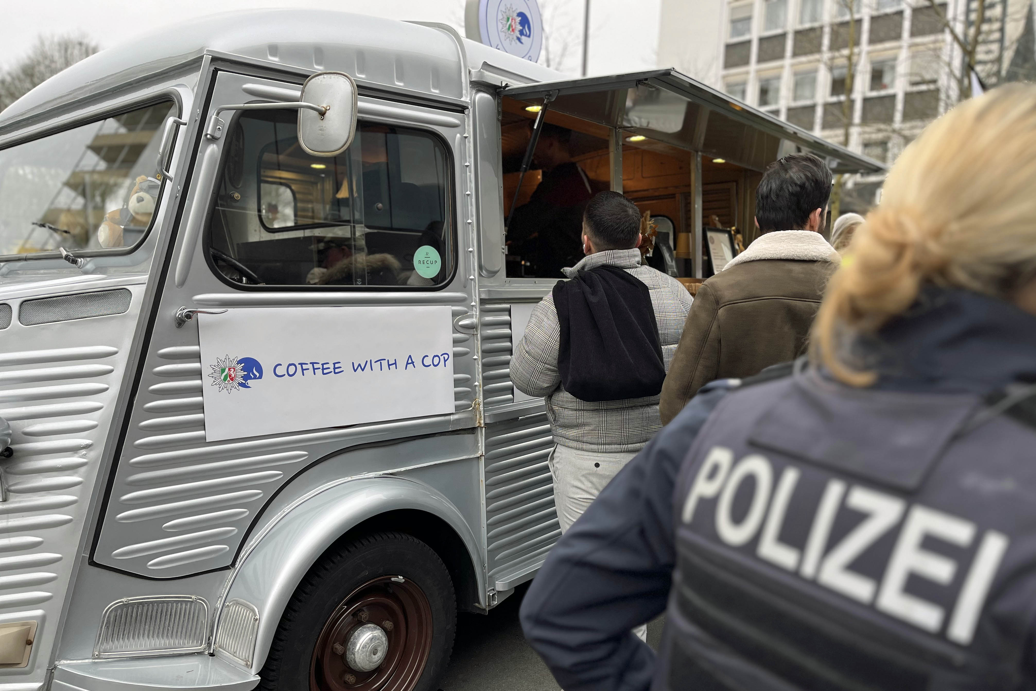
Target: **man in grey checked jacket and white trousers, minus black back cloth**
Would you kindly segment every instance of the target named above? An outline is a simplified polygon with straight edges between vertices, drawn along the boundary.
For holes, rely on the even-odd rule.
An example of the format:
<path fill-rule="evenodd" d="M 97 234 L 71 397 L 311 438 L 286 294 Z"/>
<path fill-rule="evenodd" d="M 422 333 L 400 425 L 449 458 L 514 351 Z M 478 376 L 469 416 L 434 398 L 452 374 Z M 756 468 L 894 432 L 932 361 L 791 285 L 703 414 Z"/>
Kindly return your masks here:
<path fill-rule="evenodd" d="M 626 197 L 602 192 L 589 201 L 583 214 L 583 252 L 586 257 L 572 268 L 563 269 L 569 279 L 606 267 L 623 269 L 644 286 L 643 309 L 654 311 L 661 368 L 668 371 L 684 329 L 691 295 L 673 278 L 641 264 L 640 211 Z M 621 278 L 621 277 L 620 277 Z M 640 288 L 642 290 L 642 288 Z M 651 396 L 623 400 L 580 400 L 562 383 L 558 355 L 563 325 L 554 295 L 536 306 L 525 336 L 511 362 L 511 379 L 519 391 L 543 396 L 554 437 L 550 468 L 554 477 L 554 501 L 562 530 L 567 530 L 597 497 L 598 493 L 626 463 L 640 451 L 662 423 L 658 411 L 658 391 Z M 618 320 L 616 320 L 618 321 Z M 618 333 L 628 330 L 618 324 Z M 569 335 L 566 335 L 569 336 Z M 572 335 L 570 342 L 578 342 Z M 585 353 L 572 349 L 575 367 Z M 589 364 L 593 366 L 593 364 Z M 661 381 L 659 381 L 659 390 Z"/>

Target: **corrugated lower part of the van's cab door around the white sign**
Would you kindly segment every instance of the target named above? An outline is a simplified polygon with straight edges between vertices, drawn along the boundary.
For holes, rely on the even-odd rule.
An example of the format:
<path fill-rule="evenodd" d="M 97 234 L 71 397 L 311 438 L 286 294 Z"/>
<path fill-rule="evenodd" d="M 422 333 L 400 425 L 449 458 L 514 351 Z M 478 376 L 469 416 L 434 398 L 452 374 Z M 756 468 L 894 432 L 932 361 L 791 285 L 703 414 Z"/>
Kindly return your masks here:
<path fill-rule="evenodd" d="M 452 308 L 453 316 L 467 313 Z M 94 558 L 156 578 L 225 567 L 250 521 L 299 469 L 367 440 L 423 432 L 418 421 L 205 441 L 201 349 L 184 332 L 149 356 Z M 189 340 L 189 343 L 190 343 Z M 454 333 L 455 410 L 473 406 L 473 336 Z M 2 374 L 0 374 L 2 377 Z"/>

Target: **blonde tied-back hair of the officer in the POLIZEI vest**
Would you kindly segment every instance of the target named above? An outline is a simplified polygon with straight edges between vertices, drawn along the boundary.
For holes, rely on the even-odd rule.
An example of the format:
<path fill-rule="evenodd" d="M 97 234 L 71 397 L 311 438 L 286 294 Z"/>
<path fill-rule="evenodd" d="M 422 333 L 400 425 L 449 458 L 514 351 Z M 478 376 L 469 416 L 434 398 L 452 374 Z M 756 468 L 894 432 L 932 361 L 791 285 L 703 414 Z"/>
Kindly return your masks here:
<path fill-rule="evenodd" d="M 896 161 L 813 323 L 810 355 L 837 379 L 876 373 L 853 341 L 905 312 L 923 285 L 1010 299 L 1036 277 L 1036 85 L 971 98 Z"/>

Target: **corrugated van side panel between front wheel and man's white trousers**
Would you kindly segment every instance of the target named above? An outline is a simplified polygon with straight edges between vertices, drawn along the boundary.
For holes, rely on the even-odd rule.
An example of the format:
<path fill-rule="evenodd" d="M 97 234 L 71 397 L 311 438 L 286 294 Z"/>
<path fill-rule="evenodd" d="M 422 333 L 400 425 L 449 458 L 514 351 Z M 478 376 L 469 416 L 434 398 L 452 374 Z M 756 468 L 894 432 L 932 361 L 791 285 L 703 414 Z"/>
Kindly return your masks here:
<path fill-rule="evenodd" d="M 489 581 L 542 562 L 562 535 L 547 457 L 546 413 L 486 428 L 486 542 Z"/>

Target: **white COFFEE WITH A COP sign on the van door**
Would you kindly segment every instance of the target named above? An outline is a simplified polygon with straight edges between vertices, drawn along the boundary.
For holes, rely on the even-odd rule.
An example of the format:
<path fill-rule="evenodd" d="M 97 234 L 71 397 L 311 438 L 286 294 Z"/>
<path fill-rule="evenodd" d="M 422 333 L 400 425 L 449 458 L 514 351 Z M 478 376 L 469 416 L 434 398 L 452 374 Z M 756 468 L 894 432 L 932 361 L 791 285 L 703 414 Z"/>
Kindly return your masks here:
<path fill-rule="evenodd" d="M 452 413 L 449 307 L 198 315 L 205 439 Z"/>

